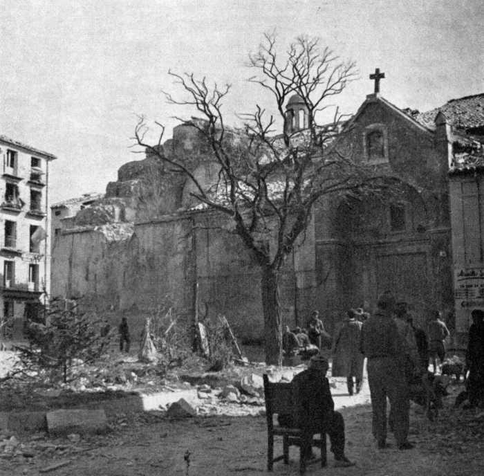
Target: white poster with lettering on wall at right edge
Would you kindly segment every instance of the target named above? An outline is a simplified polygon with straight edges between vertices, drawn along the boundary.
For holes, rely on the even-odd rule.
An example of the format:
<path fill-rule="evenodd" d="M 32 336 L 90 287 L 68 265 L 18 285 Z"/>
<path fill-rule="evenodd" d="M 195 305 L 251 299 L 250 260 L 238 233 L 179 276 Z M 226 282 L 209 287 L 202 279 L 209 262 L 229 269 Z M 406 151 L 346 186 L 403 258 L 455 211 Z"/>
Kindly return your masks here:
<path fill-rule="evenodd" d="M 472 310 L 484 310 L 484 268 L 457 268 L 454 282 L 456 331 L 467 332 Z"/>

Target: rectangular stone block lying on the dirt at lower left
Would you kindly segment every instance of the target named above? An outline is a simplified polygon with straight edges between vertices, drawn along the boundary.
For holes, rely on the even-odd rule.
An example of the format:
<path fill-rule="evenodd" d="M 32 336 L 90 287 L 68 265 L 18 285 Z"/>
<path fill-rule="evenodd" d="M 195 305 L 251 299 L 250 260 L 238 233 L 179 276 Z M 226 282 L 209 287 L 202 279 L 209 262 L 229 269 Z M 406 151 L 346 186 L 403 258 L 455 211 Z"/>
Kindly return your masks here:
<path fill-rule="evenodd" d="M 108 428 L 104 410 L 55 410 L 46 418 L 47 430 L 55 436 L 100 433 Z"/>

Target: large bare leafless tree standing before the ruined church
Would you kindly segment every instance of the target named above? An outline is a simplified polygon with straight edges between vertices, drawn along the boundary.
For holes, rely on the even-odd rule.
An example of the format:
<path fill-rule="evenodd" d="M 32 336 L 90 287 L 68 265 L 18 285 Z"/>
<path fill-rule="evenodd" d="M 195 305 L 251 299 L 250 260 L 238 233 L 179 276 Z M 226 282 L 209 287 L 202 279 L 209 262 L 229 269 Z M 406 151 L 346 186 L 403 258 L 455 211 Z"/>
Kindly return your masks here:
<path fill-rule="evenodd" d="M 250 55 L 248 66 L 255 71 L 250 82 L 266 89 L 275 100 L 270 114 L 256 104 L 254 113 L 239 116 L 243 126 L 225 125 L 223 99 L 230 85 L 210 86 L 205 78 L 169 72 L 185 91 L 185 98 L 165 94 L 171 104 L 192 107 L 203 120 L 180 122 L 198 130 L 210 146 L 219 167 L 218 180 L 204 186 L 194 176 L 189 161 L 158 152 L 158 145 L 145 141 L 148 127 L 140 119 L 136 127 L 138 145 L 147 148 L 171 170 L 192 181 L 192 196 L 207 209 L 216 210 L 232 223 L 232 232 L 251 250 L 261 266 L 266 362 L 281 364 L 281 315 L 279 276 L 297 238 L 306 230 L 311 210 L 322 196 L 358 197 L 372 192 L 378 181 L 369 171 L 337 152 L 338 137 L 344 134 L 344 120 L 335 109 L 332 120 L 318 125 L 329 107 L 328 99 L 341 93 L 356 75 L 355 64 L 342 62 L 317 39 L 298 38 L 279 62 L 275 36 L 266 34 L 259 51 Z M 306 129 L 293 131 L 285 105 L 297 95 L 306 106 Z M 284 123 L 276 134 L 277 118 Z M 159 125 L 159 124 L 158 124 Z"/>

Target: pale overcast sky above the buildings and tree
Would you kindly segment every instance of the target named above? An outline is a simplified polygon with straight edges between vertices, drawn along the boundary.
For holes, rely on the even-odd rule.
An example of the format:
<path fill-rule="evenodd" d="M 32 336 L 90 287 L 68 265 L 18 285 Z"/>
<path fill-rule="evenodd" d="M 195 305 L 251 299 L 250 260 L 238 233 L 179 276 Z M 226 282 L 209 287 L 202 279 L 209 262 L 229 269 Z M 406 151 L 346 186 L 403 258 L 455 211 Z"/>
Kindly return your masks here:
<path fill-rule="evenodd" d="M 280 46 L 321 37 L 357 63 L 360 79 L 338 98 L 353 113 L 373 92 L 426 111 L 484 92 L 482 0 L 2 0 L 0 134 L 58 156 L 50 203 L 104 192 L 132 154 L 136 116 L 176 125 L 160 91 L 169 68 L 230 82 L 225 111 L 267 105 L 245 80 L 265 31 Z M 168 137 L 168 135 L 167 135 Z"/>

